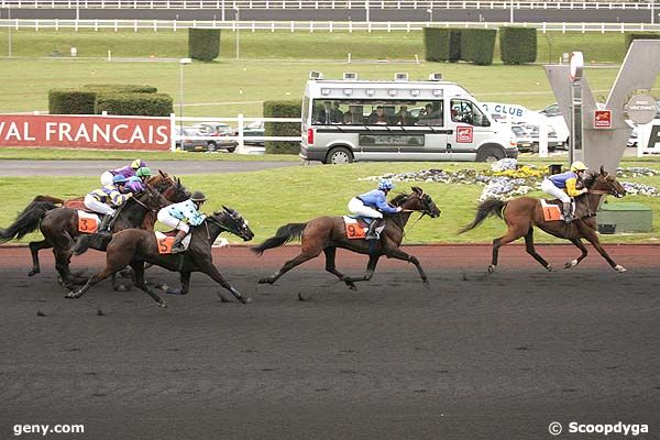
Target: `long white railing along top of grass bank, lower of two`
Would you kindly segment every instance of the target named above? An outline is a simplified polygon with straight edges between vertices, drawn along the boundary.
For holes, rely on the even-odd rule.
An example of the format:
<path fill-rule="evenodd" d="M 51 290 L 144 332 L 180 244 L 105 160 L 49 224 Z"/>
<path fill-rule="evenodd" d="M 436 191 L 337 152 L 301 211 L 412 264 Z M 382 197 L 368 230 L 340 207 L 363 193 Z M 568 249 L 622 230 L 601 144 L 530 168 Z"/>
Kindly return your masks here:
<path fill-rule="evenodd" d="M 179 31 L 188 28 L 211 28 L 229 31 L 284 32 L 411 32 L 427 26 L 498 29 L 509 22 L 394 22 L 394 21 L 184 21 L 184 20 L 61 20 L 61 19 L 0 19 L 0 29 L 11 30 L 132 30 Z M 637 32 L 660 31 L 660 24 L 649 23 L 517 23 L 546 32 Z"/>

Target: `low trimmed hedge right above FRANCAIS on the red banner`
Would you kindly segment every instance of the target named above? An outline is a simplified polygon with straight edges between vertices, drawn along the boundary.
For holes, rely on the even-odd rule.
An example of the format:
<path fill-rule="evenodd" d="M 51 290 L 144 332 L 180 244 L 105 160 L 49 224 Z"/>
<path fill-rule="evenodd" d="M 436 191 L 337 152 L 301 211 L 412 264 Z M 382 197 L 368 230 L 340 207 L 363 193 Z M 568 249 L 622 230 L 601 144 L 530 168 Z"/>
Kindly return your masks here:
<path fill-rule="evenodd" d="M 165 94 L 99 94 L 97 114 L 130 114 L 139 117 L 168 117 L 174 112 L 172 97 Z"/>

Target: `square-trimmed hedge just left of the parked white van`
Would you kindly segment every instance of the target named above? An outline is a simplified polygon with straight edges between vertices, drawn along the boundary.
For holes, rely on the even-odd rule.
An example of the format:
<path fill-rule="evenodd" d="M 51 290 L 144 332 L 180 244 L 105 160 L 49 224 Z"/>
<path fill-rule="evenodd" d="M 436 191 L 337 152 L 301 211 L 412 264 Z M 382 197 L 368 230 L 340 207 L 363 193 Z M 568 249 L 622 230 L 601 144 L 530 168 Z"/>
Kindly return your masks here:
<path fill-rule="evenodd" d="M 264 118 L 300 118 L 300 101 L 264 101 Z M 300 123 L 266 122 L 265 136 L 300 136 Z M 300 142 L 266 141 L 266 153 L 298 154 Z"/>

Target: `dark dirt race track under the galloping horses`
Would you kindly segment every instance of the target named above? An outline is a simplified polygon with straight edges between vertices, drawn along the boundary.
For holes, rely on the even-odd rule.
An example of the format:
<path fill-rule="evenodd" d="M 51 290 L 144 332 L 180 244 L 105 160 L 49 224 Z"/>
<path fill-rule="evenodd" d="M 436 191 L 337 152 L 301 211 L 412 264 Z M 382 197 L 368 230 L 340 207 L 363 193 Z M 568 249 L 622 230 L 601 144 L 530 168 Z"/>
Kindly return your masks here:
<path fill-rule="evenodd" d="M 222 249 L 221 272 L 254 302 L 221 302 L 194 275 L 167 309 L 108 283 L 66 300 L 50 256 L 28 278 L 29 251 L 0 249 L 0 439 L 42 438 L 13 437 L 16 424 L 82 424 L 45 438 L 536 440 L 554 438 L 551 421 L 647 424 L 637 438 L 658 439 L 660 246 L 608 249 L 628 273 L 595 252 L 546 273 L 508 246 L 482 278 L 490 246 L 407 248 L 430 289 L 384 261 L 358 292 L 321 260 L 257 285 L 297 249 Z M 556 267 L 578 255 L 539 250 Z"/>

